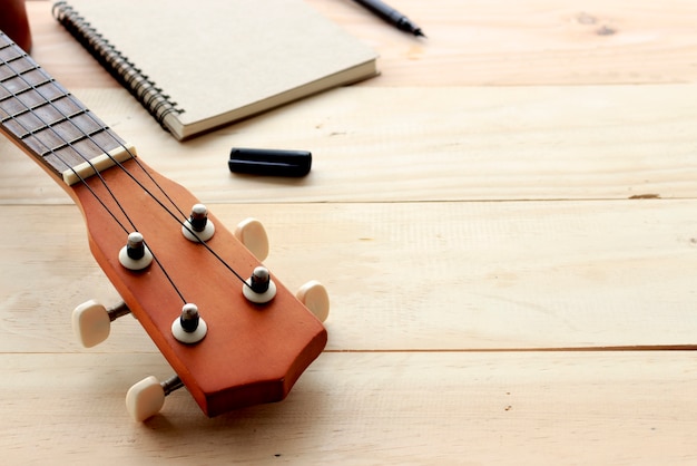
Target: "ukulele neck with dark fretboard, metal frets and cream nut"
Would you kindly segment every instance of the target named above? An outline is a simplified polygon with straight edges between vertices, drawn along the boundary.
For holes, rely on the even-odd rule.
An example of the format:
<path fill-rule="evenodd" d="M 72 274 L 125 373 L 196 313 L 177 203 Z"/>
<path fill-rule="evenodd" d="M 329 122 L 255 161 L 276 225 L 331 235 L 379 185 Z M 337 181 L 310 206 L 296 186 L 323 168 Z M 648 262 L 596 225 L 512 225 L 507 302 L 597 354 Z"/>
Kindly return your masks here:
<path fill-rule="evenodd" d="M 135 155 L 132 147 L 2 32 L 0 127 L 68 185 Z"/>

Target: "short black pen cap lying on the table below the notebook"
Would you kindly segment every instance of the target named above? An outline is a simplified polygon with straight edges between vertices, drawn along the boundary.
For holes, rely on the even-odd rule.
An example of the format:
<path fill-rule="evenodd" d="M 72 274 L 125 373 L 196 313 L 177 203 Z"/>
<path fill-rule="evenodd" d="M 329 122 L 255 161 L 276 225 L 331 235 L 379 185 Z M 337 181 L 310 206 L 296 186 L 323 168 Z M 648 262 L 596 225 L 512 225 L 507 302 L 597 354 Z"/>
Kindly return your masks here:
<path fill-rule="evenodd" d="M 249 149 L 233 147 L 230 172 L 266 176 L 305 176 L 312 166 L 307 151 Z"/>

